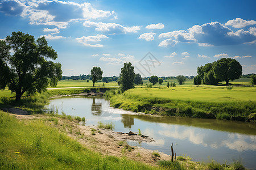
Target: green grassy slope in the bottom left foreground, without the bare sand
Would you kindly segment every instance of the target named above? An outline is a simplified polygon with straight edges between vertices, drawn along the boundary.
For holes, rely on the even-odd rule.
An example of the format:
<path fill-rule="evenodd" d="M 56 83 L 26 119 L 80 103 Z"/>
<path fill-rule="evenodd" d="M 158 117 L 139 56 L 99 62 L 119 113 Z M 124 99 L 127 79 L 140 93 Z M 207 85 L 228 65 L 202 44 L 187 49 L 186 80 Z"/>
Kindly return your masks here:
<path fill-rule="evenodd" d="M 82 147 L 46 120 L 17 121 L 0 111 L 0 169 L 158 169 Z"/>

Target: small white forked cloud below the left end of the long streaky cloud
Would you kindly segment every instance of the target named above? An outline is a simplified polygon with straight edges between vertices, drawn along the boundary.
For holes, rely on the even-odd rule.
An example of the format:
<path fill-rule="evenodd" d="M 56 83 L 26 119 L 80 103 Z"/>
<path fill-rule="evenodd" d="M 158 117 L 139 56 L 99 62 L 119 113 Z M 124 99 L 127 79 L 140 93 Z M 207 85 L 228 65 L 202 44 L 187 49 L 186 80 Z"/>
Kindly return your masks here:
<path fill-rule="evenodd" d="M 85 46 L 91 46 L 91 47 L 102 47 L 102 44 L 90 44 L 88 42 L 98 42 L 101 41 L 101 39 L 108 39 L 109 37 L 102 35 L 102 34 L 97 34 L 96 36 L 82 36 L 80 38 L 76 38 L 76 40 L 79 43 L 84 44 Z"/>

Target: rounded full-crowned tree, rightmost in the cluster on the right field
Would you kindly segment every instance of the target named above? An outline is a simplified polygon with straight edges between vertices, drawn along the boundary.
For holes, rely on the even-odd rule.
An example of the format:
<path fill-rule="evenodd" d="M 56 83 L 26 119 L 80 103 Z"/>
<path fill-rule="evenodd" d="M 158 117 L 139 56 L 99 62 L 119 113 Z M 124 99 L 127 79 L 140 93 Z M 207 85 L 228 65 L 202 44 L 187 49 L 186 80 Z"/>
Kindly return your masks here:
<path fill-rule="evenodd" d="M 225 81 L 229 84 L 229 80 L 239 79 L 242 75 L 242 66 L 236 59 L 221 58 L 213 64 L 213 73 L 216 79 Z"/>

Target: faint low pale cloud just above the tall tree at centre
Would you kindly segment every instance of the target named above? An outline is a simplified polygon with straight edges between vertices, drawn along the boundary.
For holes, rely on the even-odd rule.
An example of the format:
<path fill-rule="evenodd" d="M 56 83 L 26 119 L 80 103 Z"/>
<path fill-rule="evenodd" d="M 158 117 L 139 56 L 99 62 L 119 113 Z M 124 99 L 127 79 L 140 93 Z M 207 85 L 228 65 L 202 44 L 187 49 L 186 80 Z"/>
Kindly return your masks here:
<path fill-rule="evenodd" d="M 120 54 L 120 55 L 119 55 Z M 134 61 L 134 56 L 131 56 L 130 54 L 122 54 L 119 53 L 118 58 L 117 57 L 101 57 L 100 61 L 105 61 L 107 62 L 108 65 L 121 65 L 122 63 L 125 62 L 132 62 Z"/>

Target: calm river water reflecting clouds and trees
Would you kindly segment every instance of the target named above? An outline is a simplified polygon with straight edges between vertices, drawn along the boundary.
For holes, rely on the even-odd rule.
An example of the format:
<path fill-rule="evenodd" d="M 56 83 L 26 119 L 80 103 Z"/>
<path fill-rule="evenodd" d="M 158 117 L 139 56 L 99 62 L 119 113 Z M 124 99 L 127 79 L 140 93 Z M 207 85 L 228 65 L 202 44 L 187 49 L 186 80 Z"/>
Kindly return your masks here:
<path fill-rule="evenodd" d="M 177 155 L 187 154 L 193 161 L 232 163 L 242 160 L 250 169 L 256 168 L 256 125 L 240 121 L 222 121 L 200 118 L 155 117 L 137 115 L 109 107 L 101 97 L 62 97 L 53 99 L 47 106 L 72 116 L 86 118 L 86 125 L 98 121 L 115 125 L 114 131 L 137 132 L 155 139 L 151 143 L 129 141 L 171 155 L 171 144 Z"/>

